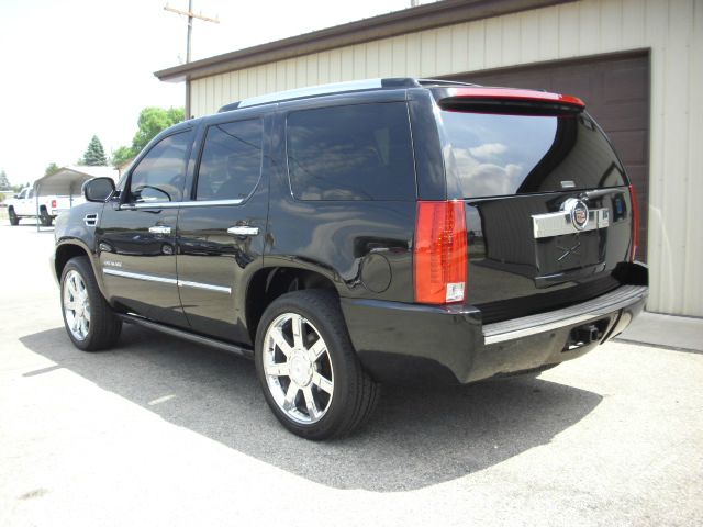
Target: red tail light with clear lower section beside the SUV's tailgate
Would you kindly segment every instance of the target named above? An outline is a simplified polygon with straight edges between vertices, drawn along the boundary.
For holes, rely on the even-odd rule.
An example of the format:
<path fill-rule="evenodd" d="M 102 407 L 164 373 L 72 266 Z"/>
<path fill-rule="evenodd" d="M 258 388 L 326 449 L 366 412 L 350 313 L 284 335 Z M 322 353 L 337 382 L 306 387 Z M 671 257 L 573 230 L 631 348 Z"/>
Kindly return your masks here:
<path fill-rule="evenodd" d="M 467 287 L 466 211 L 461 201 L 419 201 L 415 225 L 415 301 L 464 302 Z"/>

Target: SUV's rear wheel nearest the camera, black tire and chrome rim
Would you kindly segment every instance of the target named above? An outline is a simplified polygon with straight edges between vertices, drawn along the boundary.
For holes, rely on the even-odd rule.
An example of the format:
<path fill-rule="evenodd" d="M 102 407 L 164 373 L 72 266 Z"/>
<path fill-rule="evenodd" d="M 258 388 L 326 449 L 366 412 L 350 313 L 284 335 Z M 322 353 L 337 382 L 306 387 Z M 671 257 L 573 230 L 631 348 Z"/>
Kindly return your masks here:
<path fill-rule="evenodd" d="M 376 407 L 379 385 L 361 369 L 339 302 L 327 291 L 274 301 L 257 328 L 255 359 L 266 402 L 300 437 L 347 435 Z"/>

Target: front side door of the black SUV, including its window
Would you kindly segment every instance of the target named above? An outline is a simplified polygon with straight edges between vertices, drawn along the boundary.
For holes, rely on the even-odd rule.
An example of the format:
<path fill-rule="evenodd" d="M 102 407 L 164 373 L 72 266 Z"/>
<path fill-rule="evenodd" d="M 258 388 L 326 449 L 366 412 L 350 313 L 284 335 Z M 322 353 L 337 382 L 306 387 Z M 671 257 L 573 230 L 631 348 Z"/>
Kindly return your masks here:
<path fill-rule="evenodd" d="M 191 143 L 191 130 L 183 130 L 154 144 L 120 199 L 105 204 L 96 229 L 108 300 L 177 326 L 188 325 L 176 277 L 176 221 Z"/>

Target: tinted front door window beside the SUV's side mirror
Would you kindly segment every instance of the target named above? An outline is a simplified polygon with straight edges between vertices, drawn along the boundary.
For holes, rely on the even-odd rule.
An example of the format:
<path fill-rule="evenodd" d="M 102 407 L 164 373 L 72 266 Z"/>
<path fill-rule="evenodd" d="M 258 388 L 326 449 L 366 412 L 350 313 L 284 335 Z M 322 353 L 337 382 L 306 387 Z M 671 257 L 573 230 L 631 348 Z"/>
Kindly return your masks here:
<path fill-rule="evenodd" d="M 157 143 L 132 171 L 132 202 L 180 201 L 189 146 L 190 132 Z"/>

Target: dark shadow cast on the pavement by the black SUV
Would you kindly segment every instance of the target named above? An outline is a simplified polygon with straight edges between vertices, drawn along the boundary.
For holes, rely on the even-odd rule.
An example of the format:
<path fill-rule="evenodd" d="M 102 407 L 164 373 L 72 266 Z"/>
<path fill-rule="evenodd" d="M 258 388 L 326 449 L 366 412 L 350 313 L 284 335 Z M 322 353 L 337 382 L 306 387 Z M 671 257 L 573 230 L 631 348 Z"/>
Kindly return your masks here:
<path fill-rule="evenodd" d="M 170 423 L 336 489 L 393 492 L 460 478 L 549 442 L 602 399 L 539 379 L 383 386 L 364 429 L 319 444 L 286 431 L 266 405 L 254 363 L 226 352 L 134 326 L 124 327 L 116 349 L 98 354 L 74 348 L 63 327 L 21 341 Z"/>

